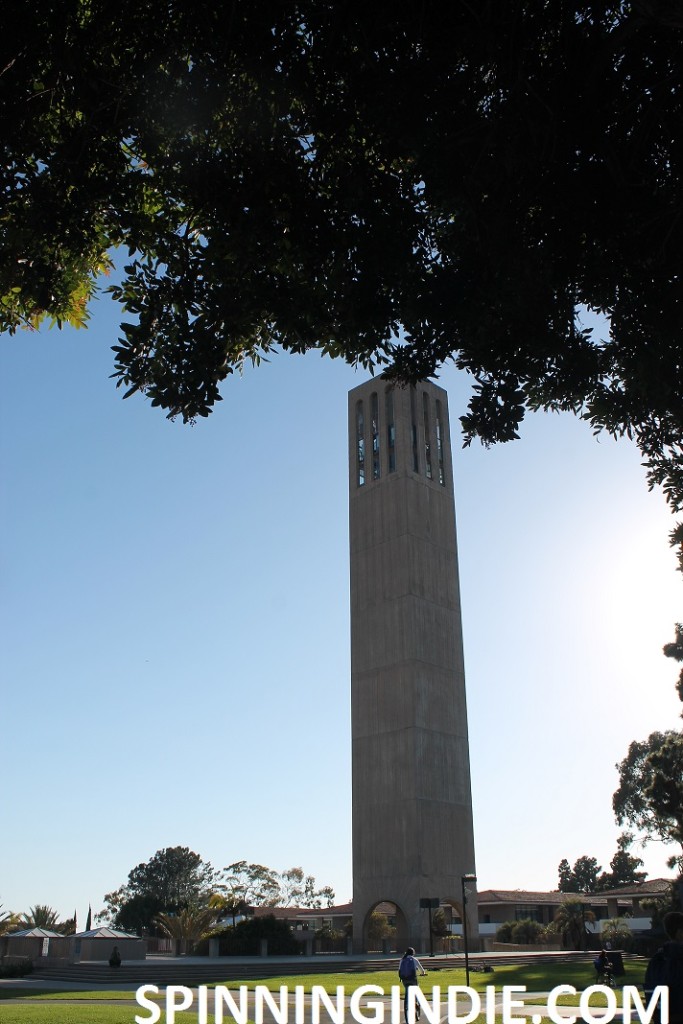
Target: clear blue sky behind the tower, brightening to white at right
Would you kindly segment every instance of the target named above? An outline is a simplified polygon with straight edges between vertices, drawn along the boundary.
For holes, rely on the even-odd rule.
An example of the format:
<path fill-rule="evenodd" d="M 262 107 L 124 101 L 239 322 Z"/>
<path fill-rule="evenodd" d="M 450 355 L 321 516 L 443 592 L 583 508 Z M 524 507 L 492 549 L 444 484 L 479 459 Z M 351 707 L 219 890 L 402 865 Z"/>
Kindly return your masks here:
<path fill-rule="evenodd" d="M 62 915 L 166 846 L 351 896 L 346 392 L 311 353 L 194 427 L 109 375 L 118 310 L 0 346 L 0 903 Z M 629 441 L 538 415 L 462 450 L 450 395 L 479 888 L 607 867 L 614 764 L 677 728 L 681 578 Z M 640 851 L 652 877 L 671 850 Z"/>

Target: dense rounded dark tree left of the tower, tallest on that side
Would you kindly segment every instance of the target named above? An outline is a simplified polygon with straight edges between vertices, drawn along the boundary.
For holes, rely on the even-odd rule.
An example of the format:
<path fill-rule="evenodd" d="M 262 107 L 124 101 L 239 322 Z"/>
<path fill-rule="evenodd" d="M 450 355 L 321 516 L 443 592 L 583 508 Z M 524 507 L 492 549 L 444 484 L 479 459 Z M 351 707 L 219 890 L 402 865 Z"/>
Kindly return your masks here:
<path fill-rule="evenodd" d="M 104 896 L 110 918 L 119 928 L 140 932 L 153 928 L 160 913 L 206 906 L 215 874 L 211 864 L 187 847 L 158 850 L 129 872 L 124 886 Z"/>

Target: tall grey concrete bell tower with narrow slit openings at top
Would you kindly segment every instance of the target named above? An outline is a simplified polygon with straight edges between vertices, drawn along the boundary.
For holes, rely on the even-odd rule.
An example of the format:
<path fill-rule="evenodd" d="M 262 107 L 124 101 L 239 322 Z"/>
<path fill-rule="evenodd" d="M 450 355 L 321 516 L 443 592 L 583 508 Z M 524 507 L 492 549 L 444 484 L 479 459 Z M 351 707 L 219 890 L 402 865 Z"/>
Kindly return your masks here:
<path fill-rule="evenodd" d="M 475 872 L 447 396 L 379 378 L 348 409 L 353 942 L 386 901 L 424 952 L 426 901 L 462 920 Z"/>

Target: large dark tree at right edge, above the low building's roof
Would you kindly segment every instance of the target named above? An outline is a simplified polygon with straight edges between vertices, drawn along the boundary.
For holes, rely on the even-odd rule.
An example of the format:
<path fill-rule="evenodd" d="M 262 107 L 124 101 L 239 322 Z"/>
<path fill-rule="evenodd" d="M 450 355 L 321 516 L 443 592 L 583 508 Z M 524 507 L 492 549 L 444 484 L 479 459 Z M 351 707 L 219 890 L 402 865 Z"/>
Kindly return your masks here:
<path fill-rule="evenodd" d="M 620 785 L 612 807 L 618 824 L 683 850 L 683 733 L 652 732 L 645 740 L 634 740 L 616 769 Z M 682 861 L 679 853 L 670 865 Z"/>

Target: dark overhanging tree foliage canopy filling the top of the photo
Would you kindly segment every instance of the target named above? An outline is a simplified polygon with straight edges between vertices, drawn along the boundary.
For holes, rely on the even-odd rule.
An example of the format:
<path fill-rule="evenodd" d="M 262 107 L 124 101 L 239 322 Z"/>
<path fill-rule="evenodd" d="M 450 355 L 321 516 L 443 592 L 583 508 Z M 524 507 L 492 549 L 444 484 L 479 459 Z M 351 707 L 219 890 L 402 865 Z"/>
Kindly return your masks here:
<path fill-rule="evenodd" d="M 116 376 L 170 415 L 273 346 L 454 359 L 466 440 L 570 410 L 683 503 L 673 0 L 5 13 L 1 328 L 85 323 L 126 247 Z"/>

